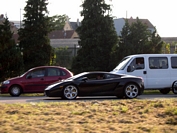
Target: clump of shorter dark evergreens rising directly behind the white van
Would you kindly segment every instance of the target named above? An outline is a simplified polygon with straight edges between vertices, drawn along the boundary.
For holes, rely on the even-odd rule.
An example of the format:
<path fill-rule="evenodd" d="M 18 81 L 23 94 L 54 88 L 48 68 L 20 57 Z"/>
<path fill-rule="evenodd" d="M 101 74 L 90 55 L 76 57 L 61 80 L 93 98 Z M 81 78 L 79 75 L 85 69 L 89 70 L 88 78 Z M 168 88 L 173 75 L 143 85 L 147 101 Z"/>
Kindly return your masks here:
<path fill-rule="evenodd" d="M 138 17 L 137 21 L 131 25 L 126 20 L 119 38 L 119 45 L 112 53 L 114 57 L 112 62 L 116 63 L 114 66 L 127 55 L 161 53 L 163 42 L 156 28 L 153 32 L 149 31 Z"/>

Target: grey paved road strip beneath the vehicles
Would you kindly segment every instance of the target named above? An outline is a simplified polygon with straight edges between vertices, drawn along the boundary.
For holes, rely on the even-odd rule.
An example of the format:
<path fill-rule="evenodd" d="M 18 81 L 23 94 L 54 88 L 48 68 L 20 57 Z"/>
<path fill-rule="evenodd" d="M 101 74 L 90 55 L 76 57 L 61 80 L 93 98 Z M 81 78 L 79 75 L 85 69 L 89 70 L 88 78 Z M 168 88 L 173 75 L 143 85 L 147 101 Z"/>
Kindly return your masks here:
<path fill-rule="evenodd" d="M 175 98 L 177 99 L 177 95 L 168 94 L 168 95 L 141 95 L 138 96 L 137 99 L 149 99 L 149 100 L 157 100 L 157 99 L 169 99 Z M 121 100 L 116 97 L 78 97 L 73 101 L 87 101 L 87 100 Z M 64 102 L 68 100 L 62 100 L 59 97 L 50 98 L 44 96 L 20 96 L 20 97 L 11 97 L 11 96 L 0 96 L 0 103 L 29 103 L 29 102 Z"/>

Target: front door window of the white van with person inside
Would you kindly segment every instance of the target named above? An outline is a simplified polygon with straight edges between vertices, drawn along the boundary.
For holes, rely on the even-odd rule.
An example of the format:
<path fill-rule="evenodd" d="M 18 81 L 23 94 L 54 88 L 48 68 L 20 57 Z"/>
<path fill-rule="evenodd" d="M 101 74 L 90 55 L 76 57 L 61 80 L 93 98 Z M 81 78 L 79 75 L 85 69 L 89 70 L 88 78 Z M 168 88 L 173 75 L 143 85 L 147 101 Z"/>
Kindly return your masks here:
<path fill-rule="evenodd" d="M 131 70 L 144 69 L 144 58 L 135 58 L 130 64 Z"/>

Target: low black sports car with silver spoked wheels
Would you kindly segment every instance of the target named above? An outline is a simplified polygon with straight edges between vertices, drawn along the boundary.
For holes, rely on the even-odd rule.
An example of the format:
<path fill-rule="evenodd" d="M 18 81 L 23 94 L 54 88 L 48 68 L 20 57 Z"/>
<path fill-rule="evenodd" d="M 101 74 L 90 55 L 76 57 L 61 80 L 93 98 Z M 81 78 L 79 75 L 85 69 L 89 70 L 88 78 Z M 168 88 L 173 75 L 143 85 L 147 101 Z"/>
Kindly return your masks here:
<path fill-rule="evenodd" d="M 83 72 L 49 85 L 45 96 L 75 99 L 77 96 L 117 96 L 136 98 L 144 91 L 141 77 L 110 72 Z"/>

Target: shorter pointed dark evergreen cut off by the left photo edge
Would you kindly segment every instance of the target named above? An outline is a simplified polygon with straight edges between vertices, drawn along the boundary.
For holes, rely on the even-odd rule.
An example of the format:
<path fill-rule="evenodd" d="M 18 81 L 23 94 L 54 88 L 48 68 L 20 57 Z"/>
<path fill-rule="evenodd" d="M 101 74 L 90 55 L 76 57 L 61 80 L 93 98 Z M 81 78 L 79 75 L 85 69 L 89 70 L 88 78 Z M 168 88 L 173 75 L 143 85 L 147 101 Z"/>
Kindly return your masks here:
<path fill-rule="evenodd" d="M 20 75 L 23 59 L 15 40 L 12 39 L 11 25 L 6 17 L 0 25 L 0 81 Z"/>

